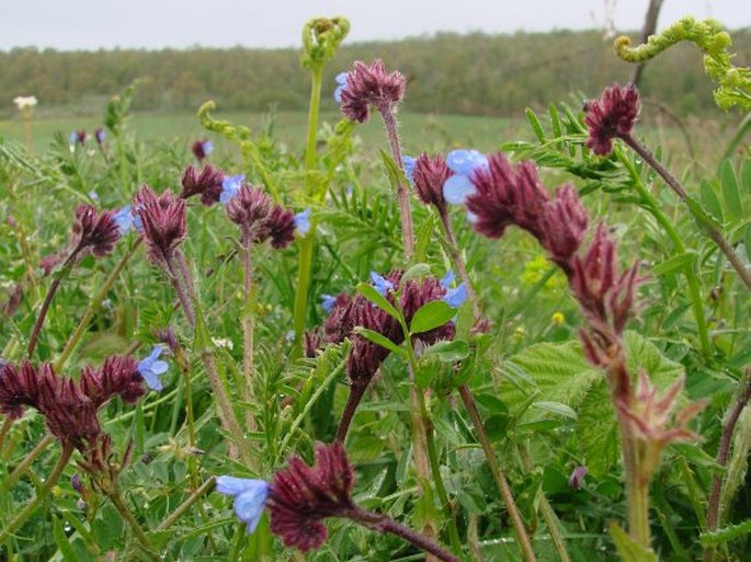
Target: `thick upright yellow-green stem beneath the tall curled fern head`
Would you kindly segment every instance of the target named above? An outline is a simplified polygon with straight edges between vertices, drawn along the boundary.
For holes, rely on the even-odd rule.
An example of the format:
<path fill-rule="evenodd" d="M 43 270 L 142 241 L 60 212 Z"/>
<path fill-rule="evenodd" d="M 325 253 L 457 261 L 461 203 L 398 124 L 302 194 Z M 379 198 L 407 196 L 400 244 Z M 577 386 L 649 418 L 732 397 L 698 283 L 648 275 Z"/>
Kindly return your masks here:
<path fill-rule="evenodd" d="M 305 148 L 305 195 L 314 196 L 314 170 L 316 169 L 316 138 L 318 133 L 318 116 L 321 103 L 321 84 L 323 80 L 323 65 L 316 65 L 310 70 L 310 106 L 308 108 L 308 135 Z M 295 329 L 295 357 L 303 355 L 305 325 L 308 317 L 308 293 L 312 272 L 312 254 L 316 243 L 316 220 L 310 221 L 310 231 L 299 241 L 299 257 L 297 264 L 297 291 L 295 293 L 295 308 L 293 325 Z"/>

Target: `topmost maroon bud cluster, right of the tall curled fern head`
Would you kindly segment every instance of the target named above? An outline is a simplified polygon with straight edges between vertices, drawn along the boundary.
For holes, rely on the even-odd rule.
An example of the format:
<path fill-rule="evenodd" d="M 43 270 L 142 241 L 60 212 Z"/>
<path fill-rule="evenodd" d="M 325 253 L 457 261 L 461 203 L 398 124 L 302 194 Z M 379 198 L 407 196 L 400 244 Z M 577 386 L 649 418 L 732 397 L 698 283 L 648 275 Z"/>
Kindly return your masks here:
<path fill-rule="evenodd" d="M 405 96 L 406 87 L 405 76 L 399 71 L 387 73 L 382 60 L 371 66 L 356 61 L 341 92 L 342 113 L 350 121 L 365 123 L 371 106 L 382 113 L 392 111 Z"/>

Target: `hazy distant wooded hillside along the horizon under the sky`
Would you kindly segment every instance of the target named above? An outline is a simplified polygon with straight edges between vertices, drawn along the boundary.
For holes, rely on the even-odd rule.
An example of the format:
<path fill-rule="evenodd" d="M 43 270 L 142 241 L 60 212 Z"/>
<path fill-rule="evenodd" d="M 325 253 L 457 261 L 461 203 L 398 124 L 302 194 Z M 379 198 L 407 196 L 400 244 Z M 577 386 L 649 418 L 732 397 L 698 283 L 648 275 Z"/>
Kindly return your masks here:
<path fill-rule="evenodd" d="M 633 34 L 634 37 L 637 34 Z M 736 65 L 751 61 L 751 30 L 732 33 Z M 547 105 L 574 93 L 599 95 L 624 82 L 630 65 L 618 60 L 612 39 L 596 31 L 513 35 L 439 33 L 430 37 L 343 46 L 328 67 L 326 104 L 334 108 L 334 76 L 354 60 L 382 58 L 408 78 L 410 112 L 519 115 L 525 106 Z M 13 116 L 15 95 L 36 95 L 39 112 L 90 114 L 135 79 L 143 82 L 134 108 L 194 111 L 213 99 L 221 110 L 305 110 L 309 79 L 295 49 L 162 49 L 57 51 L 16 48 L 0 53 L 0 117 Z M 693 45 L 669 49 L 650 62 L 644 96 L 673 112 L 705 113 L 714 107 L 702 54 Z M 327 105 L 325 105 L 327 107 Z"/>

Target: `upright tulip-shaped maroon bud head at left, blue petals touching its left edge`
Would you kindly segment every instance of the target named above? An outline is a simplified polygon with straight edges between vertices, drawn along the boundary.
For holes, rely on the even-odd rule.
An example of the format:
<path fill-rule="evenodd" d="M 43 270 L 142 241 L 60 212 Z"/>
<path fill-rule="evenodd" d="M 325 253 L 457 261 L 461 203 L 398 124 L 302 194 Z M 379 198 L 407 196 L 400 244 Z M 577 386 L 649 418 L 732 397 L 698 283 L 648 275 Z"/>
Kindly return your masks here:
<path fill-rule="evenodd" d="M 170 264 L 186 233 L 185 202 L 169 190 L 158 196 L 144 185 L 134 197 L 133 208 L 144 227 L 149 257 L 157 265 Z"/>

